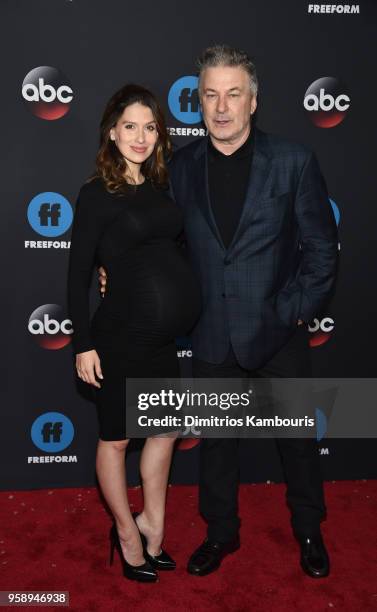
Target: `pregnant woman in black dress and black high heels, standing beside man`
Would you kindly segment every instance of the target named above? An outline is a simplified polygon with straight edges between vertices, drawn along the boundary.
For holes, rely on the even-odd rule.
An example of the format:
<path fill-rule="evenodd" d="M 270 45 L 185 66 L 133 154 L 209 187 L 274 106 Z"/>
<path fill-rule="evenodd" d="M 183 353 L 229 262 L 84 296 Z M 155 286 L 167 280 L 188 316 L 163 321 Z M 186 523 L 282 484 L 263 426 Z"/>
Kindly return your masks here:
<path fill-rule="evenodd" d="M 200 294 L 177 238 L 180 209 L 168 196 L 165 159 L 171 144 L 152 93 L 126 85 L 108 102 L 96 173 L 80 190 L 73 222 L 68 306 L 76 369 L 96 388 L 96 471 L 114 517 L 110 561 L 117 549 L 127 578 L 155 582 L 174 569 L 161 548 L 168 474 L 175 442 L 150 437 L 140 460 L 144 508 L 131 514 L 125 452 L 126 377 L 179 377 L 174 339 L 200 313 Z M 95 263 L 107 291 L 92 321 L 89 286 Z"/>

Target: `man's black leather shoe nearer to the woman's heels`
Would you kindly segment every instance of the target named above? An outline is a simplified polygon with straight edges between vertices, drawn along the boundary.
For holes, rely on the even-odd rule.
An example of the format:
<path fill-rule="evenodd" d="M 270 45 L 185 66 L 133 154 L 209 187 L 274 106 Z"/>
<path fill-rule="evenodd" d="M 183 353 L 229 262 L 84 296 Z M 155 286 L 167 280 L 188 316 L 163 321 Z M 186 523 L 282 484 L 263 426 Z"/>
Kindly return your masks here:
<path fill-rule="evenodd" d="M 239 547 L 239 538 L 227 543 L 206 538 L 191 555 L 187 564 L 187 571 L 194 576 L 210 574 L 220 567 L 221 561 L 226 555 L 235 552 Z"/>

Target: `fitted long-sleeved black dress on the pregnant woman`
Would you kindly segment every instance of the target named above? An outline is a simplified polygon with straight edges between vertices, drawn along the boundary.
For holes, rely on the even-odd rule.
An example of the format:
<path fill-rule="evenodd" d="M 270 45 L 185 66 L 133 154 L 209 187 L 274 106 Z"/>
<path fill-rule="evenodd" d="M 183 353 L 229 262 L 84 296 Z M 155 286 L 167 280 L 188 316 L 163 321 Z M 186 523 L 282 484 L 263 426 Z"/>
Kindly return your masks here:
<path fill-rule="evenodd" d="M 68 308 L 76 353 L 95 349 L 104 379 L 96 389 L 102 440 L 126 438 L 127 377 L 179 377 L 175 338 L 200 314 L 199 284 L 177 238 L 183 215 L 167 191 L 146 180 L 124 194 L 101 179 L 80 190 L 73 221 Z M 107 272 L 92 321 L 89 286 L 95 262 Z"/>

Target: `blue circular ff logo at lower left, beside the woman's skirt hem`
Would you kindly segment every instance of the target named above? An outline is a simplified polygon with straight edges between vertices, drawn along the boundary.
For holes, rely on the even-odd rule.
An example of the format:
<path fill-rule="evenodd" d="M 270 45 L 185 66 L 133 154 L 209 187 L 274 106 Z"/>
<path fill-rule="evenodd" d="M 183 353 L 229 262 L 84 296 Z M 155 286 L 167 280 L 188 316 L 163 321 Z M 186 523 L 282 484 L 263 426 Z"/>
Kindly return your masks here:
<path fill-rule="evenodd" d="M 61 412 L 41 414 L 31 427 L 31 439 L 35 446 L 49 453 L 58 453 L 67 448 L 74 433 L 72 421 Z"/>

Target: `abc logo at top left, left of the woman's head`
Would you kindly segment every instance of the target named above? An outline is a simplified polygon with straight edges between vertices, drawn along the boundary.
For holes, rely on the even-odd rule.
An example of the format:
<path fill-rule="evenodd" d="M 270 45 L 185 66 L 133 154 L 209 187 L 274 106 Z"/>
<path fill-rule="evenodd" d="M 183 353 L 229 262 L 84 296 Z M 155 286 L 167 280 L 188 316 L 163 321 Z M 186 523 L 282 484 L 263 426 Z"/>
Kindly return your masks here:
<path fill-rule="evenodd" d="M 56 68 L 39 66 L 24 78 L 22 97 L 33 115 L 52 121 L 68 113 L 73 91 L 68 79 Z"/>

